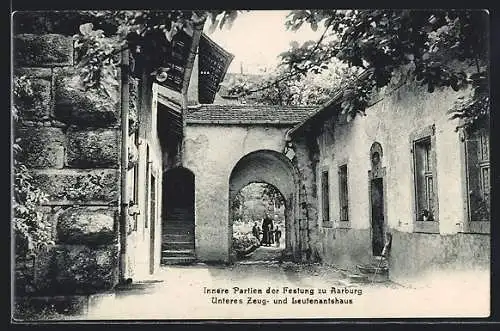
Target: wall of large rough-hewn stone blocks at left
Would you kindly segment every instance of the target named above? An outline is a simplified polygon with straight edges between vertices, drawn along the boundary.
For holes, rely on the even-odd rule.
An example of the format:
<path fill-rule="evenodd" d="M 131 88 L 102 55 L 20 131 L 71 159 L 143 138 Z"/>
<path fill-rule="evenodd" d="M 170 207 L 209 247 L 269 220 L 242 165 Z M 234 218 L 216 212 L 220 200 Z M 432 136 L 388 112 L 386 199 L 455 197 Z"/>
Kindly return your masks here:
<path fill-rule="evenodd" d="M 13 55 L 15 76 L 34 90 L 17 105 L 14 135 L 49 195 L 43 211 L 54 228 L 55 245 L 36 258 L 36 290 L 109 289 L 118 280 L 119 104 L 79 90 L 71 36 L 18 34 Z"/>

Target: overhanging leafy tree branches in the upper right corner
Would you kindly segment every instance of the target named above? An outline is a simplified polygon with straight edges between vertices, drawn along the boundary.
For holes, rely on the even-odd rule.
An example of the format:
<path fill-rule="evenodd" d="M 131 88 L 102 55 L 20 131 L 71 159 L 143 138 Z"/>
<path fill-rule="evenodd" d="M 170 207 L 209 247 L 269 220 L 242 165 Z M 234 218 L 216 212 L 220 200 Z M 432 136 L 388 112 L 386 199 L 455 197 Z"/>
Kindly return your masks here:
<path fill-rule="evenodd" d="M 370 69 L 360 88 L 348 92 L 345 112 L 363 113 L 371 95 L 387 86 L 394 73 L 408 74 L 429 93 L 436 88 L 455 91 L 476 85 L 487 88 L 488 17 L 479 10 L 295 10 L 286 25 L 297 30 L 323 24 L 320 42 L 306 42 L 281 54 L 291 71 L 318 72 L 331 58 L 350 67 Z M 474 66 L 476 77 L 465 66 Z M 482 81 L 482 82 L 479 82 Z M 474 85 L 476 84 L 476 85 Z M 462 106 L 462 108 L 460 108 Z M 471 123 L 489 113 L 489 100 L 473 93 L 469 102 L 457 104 L 456 112 Z"/>

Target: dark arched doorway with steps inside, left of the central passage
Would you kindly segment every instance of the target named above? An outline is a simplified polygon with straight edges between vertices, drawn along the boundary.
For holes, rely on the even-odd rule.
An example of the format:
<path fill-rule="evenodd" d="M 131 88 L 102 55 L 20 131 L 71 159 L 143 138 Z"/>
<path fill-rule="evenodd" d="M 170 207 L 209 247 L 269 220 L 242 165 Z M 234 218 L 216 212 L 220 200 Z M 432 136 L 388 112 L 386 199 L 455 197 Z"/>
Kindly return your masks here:
<path fill-rule="evenodd" d="M 165 172 L 163 181 L 162 264 L 195 259 L 194 174 L 183 167 Z"/>

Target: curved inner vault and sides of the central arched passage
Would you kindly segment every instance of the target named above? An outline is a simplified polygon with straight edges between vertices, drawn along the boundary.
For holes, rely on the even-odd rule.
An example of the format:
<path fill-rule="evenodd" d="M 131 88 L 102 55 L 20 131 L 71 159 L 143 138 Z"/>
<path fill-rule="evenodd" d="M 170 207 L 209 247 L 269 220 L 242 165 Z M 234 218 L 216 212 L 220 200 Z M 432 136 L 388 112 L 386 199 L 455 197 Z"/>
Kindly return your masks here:
<path fill-rule="evenodd" d="M 298 175 L 283 154 L 259 150 L 242 157 L 229 177 L 229 243 L 232 242 L 232 208 L 236 194 L 250 183 L 268 183 L 276 187 L 285 199 L 285 251 L 291 253 L 298 222 Z M 231 245 L 229 245 L 230 247 Z"/>

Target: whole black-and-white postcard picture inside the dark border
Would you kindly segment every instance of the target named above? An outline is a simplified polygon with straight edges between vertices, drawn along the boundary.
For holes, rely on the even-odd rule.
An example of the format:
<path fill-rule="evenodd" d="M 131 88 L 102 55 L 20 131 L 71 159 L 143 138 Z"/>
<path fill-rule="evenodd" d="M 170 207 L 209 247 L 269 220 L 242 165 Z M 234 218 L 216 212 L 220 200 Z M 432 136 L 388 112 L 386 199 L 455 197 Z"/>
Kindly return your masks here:
<path fill-rule="evenodd" d="M 490 316 L 487 10 L 11 24 L 12 323 Z"/>

